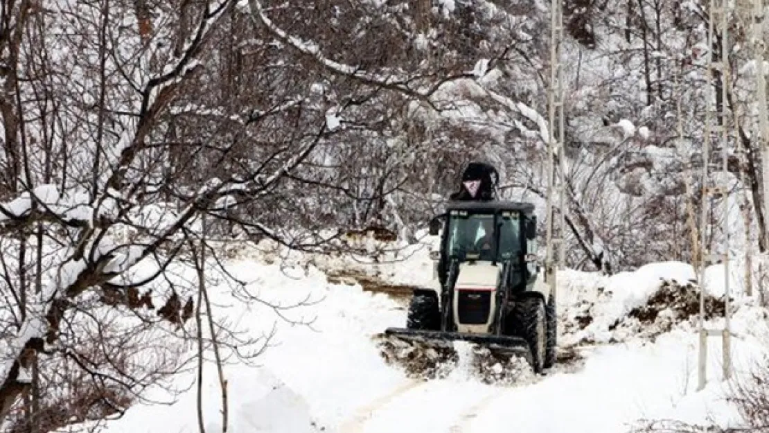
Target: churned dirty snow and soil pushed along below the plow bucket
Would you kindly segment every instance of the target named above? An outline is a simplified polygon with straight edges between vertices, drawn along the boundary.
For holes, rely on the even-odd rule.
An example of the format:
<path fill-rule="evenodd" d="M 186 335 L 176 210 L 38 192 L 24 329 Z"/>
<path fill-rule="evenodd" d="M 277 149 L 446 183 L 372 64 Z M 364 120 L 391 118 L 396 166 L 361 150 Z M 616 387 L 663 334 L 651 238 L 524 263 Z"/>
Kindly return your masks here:
<path fill-rule="evenodd" d="M 384 334 L 375 341 L 388 364 L 402 368 L 410 378 L 441 379 L 465 375 L 488 385 L 520 385 L 534 377 L 524 358 L 494 353 L 478 345 L 467 352 L 451 345 L 434 346 L 419 341 L 401 341 Z"/>

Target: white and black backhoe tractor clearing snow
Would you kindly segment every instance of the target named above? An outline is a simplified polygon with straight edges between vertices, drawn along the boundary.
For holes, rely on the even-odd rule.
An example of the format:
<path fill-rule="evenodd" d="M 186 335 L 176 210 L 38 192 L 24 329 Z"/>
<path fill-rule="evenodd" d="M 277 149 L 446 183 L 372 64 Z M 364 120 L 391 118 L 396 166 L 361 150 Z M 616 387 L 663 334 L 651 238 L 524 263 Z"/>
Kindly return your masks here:
<path fill-rule="evenodd" d="M 536 261 L 534 205 L 496 199 L 496 170 L 471 163 L 444 214 L 434 284 L 416 288 L 406 328 L 384 333 L 404 341 L 446 345 L 463 340 L 501 355 L 523 356 L 535 373 L 556 358 L 555 296 Z"/>

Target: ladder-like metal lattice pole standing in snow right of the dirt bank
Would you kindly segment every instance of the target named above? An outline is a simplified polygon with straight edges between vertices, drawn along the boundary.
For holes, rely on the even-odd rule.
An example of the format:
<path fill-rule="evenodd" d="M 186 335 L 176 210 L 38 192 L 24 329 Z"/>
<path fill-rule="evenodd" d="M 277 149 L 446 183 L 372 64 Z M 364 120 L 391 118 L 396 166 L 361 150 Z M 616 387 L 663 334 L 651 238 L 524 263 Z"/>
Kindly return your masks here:
<path fill-rule="evenodd" d="M 730 109 L 727 106 L 729 77 L 730 77 L 730 65 L 729 65 L 729 38 L 728 38 L 728 16 L 729 10 L 727 8 L 727 0 L 711 0 L 710 1 L 710 19 L 708 28 L 708 78 L 714 81 L 714 87 L 716 91 L 721 91 L 721 98 L 708 98 L 708 108 L 705 113 L 705 136 L 704 136 L 704 148 L 702 151 L 702 216 L 700 221 L 700 235 L 701 235 L 701 256 L 700 256 L 700 351 L 698 359 L 698 382 L 697 390 L 701 390 L 705 387 L 707 382 L 707 337 L 708 336 L 721 336 L 723 342 L 723 368 L 724 379 L 728 379 L 731 375 L 731 335 L 729 324 L 729 208 L 728 208 L 728 148 L 729 148 L 729 135 L 730 128 L 728 127 L 729 120 L 733 117 L 730 114 Z M 718 22 L 716 28 L 716 20 Z M 717 47 L 717 35 L 721 35 L 721 50 L 719 58 L 714 58 L 714 50 Z M 720 76 L 720 82 L 719 82 Z M 721 104 L 718 104 L 718 99 L 721 100 Z M 716 124 L 713 124 L 714 117 Z M 711 133 L 719 135 L 721 138 L 721 151 L 723 152 L 723 172 L 721 178 L 721 185 L 709 185 L 708 182 L 708 165 L 710 165 L 711 156 Z M 717 196 L 723 200 L 723 218 L 724 218 L 724 252 L 721 256 L 721 260 L 724 263 L 724 298 L 725 312 L 724 312 L 724 327 L 721 329 L 706 329 L 704 327 L 705 316 L 705 268 L 707 262 L 711 261 L 711 258 L 715 258 L 714 255 L 708 254 L 707 245 L 707 228 L 710 227 L 710 221 L 708 218 L 708 208 L 711 198 Z"/>

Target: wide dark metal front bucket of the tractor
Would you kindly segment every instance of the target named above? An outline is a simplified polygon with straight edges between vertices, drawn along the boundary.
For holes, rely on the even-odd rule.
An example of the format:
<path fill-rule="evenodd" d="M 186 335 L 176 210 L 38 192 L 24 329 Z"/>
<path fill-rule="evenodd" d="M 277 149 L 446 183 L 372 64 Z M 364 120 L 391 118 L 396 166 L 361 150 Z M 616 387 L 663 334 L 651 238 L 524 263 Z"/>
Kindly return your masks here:
<path fill-rule="evenodd" d="M 452 348 L 454 341 L 468 341 L 491 353 L 504 357 L 522 357 L 531 364 L 531 351 L 528 343 L 520 337 L 508 335 L 470 334 L 468 332 L 426 331 L 406 328 L 387 328 L 384 335 L 406 342 L 428 346 Z"/>

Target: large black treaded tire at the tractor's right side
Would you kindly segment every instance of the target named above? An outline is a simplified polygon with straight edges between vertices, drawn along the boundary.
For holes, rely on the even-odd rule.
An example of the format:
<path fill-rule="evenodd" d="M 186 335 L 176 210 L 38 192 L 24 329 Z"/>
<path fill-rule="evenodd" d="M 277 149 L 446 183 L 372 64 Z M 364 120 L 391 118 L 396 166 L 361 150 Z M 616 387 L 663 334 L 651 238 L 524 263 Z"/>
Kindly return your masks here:
<path fill-rule="evenodd" d="M 521 298 L 512 311 L 511 335 L 524 338 L 531 352 L 531 368 L 540 375 L 547 351 L 547 315 L 541 298 Z"/>

